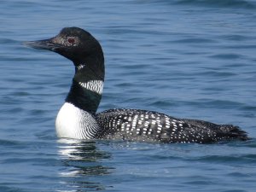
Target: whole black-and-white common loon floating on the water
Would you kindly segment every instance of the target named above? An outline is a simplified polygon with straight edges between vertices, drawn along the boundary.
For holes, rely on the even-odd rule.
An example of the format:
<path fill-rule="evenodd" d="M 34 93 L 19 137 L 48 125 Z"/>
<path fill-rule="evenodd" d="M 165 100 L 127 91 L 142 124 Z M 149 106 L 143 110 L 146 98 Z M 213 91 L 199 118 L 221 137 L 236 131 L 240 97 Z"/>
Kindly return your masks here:
<path fill-rule="evenodd" d="M 58 137 L 149 143 L 247 140 L 247 133 L 234 125 L 177 119 L 164 113 L 138 109 L 110 109 L 96 113 L 102 99 L 104 56 L 96 38 L 79 27 L 66 27 L 54 38 L 24 44 L 54 51 L 73 61 L 73 83 L 55 120 Z"/>

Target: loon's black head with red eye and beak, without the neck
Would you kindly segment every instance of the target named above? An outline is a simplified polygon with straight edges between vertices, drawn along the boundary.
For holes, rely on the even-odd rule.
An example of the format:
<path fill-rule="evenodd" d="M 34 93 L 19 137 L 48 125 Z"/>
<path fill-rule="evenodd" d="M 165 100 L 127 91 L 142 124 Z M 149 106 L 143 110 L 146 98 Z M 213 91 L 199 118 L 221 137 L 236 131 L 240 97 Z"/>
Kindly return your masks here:
<path fill-rule="evenodd" d="M 73 61 L 75 66 L 88 62 L 102 62 L 104 57 L 99 42 L 79 27 L 66 27 L 54 38 L 40 41 L 25 42 L 35 49 L 48 49 Z"/>

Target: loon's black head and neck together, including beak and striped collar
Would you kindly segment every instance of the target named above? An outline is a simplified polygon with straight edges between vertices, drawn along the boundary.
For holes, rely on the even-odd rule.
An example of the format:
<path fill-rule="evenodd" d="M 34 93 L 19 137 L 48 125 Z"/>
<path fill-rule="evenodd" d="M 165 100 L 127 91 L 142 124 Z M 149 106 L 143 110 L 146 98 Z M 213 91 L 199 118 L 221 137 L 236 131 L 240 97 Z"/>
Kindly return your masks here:
<path fill-rule="evenodd" d="M 90 113 L 96 113 L 101 102 L 104 81 L 102 47 L 89 32 L 66 27 L 54 38 L 24 43 L 35 49 L 48 49 L 73 61 L 76 73 L 66 102 Z"/>

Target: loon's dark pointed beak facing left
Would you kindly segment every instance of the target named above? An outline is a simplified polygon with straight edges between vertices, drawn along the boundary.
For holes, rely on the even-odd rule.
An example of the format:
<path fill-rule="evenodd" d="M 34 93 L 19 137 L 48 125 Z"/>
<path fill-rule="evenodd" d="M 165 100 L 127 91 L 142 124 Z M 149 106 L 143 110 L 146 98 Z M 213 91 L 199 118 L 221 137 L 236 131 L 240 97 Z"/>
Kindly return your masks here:
<path fill-rule="evenodd" d="M 54 38 L 39 40 L 39 41 L 26 41 L 23 44 L 27 47 L 32 47 L 34 49 L 47 49 L 55 51 L 55 49 L 60 48 L 60 44 L 55 44 L 53 42 Z"/>

